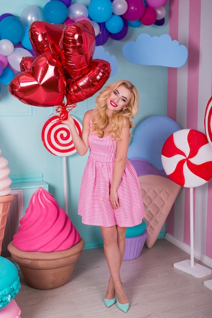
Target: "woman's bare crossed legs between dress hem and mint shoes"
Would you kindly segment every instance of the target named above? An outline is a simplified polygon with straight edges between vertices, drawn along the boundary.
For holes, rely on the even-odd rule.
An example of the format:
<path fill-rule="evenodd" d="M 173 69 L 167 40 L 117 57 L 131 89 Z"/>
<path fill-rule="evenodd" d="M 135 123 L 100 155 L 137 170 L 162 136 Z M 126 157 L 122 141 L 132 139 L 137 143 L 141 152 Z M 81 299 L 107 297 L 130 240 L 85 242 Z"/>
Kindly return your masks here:
<path fill-rule="evenodd" d="M 104 241 L 105 257 L 110 270 L 110 278 L 105 298 L 113 299 L 116 293 L 119 303 L 125 304 L 128 300 L 120 279 L 120 266 L 125 253 L 126 228 L 118 226 L 109 228 L 101 227 L 101 232 Z"/>

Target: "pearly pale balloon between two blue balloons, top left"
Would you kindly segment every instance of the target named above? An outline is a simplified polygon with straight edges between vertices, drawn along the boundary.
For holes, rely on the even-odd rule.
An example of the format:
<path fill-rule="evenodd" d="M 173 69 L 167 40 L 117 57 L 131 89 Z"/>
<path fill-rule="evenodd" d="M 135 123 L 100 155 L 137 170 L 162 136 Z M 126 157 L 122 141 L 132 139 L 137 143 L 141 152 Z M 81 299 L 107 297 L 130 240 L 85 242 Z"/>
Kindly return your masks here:
<path fill-rule="evenodd" d="M 34 21 L 43 21 L 43 15 L 37 6 L 27 6 L 20 15 L 20 21 L 23 26 L 31 25 Z"/>

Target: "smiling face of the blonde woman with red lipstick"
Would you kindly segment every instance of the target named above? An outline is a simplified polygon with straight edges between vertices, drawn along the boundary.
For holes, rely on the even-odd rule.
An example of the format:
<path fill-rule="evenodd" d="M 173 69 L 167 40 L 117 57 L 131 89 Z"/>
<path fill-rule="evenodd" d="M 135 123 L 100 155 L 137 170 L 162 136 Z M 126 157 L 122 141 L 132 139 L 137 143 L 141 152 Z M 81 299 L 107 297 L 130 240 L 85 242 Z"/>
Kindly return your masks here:
<path fill-rule="evenodd" d="M 127 108 L 130 99 L 130 90 L 124 85 L 119 85 L 116 89 L 111 91 L 107 98 L 107 114 Z"/>

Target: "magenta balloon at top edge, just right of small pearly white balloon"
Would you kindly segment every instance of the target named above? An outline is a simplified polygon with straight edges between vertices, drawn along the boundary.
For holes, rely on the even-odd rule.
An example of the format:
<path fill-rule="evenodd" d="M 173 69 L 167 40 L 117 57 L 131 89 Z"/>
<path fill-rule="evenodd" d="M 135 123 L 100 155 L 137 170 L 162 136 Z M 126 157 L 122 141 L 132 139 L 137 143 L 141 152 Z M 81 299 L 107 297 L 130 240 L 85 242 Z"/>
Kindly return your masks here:
<path fill-rule="evenodd" d="M 125 14 L 122 15 L 123 18 L 129 21 L 139 20 L 145 10 L 145 5 L 142 0 L 126 0 L 128 4 L 128 9 Z"/>

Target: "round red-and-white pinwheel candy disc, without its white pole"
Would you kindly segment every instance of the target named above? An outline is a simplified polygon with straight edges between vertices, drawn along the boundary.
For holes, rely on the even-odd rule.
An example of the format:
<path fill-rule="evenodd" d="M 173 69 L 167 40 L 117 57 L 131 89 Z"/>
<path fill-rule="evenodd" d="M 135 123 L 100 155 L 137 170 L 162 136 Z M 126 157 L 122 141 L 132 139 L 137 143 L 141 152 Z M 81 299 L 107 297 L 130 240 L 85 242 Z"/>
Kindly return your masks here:
<path fill-rule="evenodd" d="M 161 160 L 168 177 L 181 186 L 197 187 L 212 177 L 212 148 L 206 136 L 194 129 L 169 136 Z"/>

